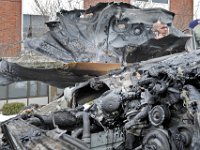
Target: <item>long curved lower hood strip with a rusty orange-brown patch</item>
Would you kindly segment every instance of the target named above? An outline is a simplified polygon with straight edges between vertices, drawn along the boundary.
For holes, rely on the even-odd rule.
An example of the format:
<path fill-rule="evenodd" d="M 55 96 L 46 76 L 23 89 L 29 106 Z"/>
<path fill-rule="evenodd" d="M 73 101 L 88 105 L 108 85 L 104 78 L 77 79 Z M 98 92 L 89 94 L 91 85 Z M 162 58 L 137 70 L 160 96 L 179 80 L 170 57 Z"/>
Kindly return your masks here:
<path fill-rule="evenodd" d="M 17 63 L 6 60 L 0 61 L 0 85 L 8 85 L 17 81 L 41 81 L 47 84 L 65 88 L 75 83 L 84 82 L 90 78 L 104 75 L 120 64 L 100 63 L 68 63 L 48 66 L 48 68 L 23 67 Z M 98 68 L 98 69 L 97 69 Z"/>

